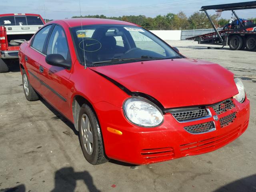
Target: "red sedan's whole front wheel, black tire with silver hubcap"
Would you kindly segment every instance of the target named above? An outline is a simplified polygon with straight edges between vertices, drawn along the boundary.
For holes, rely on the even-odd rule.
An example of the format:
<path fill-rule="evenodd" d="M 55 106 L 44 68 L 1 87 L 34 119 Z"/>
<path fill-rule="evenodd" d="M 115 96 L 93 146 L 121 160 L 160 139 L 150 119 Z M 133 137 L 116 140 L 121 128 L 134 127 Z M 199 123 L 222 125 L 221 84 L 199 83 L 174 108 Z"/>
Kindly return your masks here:
<path fill-rule="evenodd" d="M 84 158 L 93 165 L 107 162 L 100 126 L 90 106 L 83 104 L 78 118 L 79 141 Z"/>

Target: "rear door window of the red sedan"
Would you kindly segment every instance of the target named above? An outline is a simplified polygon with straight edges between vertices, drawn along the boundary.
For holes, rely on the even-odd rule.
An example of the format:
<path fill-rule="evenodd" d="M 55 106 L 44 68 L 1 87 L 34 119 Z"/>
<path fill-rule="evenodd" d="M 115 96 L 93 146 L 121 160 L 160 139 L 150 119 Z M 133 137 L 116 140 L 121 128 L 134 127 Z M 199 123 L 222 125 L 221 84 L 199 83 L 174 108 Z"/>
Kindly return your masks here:
<path fill-rule="evenodd" d="M 43 52 L 44 48 L 44 42 L 46 40 L 47 34 L 50 30 L 52 25 L 48 25 L 44 28 L 42 28 L 34 37 L 32 47 L 35 48 L 36 50 Z"/>

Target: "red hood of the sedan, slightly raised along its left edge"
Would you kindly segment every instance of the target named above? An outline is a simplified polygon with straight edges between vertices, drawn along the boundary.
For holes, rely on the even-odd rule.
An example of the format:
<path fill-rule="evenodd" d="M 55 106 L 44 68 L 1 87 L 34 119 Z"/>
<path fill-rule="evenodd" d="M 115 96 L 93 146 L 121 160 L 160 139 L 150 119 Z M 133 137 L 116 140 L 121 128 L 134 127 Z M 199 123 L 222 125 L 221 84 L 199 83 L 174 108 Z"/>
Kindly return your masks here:
<path fill-rule="evenodd" d="M 214 104 L 238 94 L 232 72 L 202 60 L 152 60 L 91 69 L 132 92 L 154 97 L 164 108 Z"/>

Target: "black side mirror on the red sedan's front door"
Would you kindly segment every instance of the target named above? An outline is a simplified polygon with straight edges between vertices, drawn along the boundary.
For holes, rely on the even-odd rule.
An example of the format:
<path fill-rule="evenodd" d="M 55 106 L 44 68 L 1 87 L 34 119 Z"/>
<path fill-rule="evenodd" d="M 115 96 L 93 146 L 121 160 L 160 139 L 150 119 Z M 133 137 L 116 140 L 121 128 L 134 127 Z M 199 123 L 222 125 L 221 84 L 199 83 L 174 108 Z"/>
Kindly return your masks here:
<path fill-rule="evenodd" d="M 45 62 L 52 66 L 63 67 L 65 69 L 71 68 L 71 62 L 64 59 L 61 54 L 49 54 L 46 56 Z"/>

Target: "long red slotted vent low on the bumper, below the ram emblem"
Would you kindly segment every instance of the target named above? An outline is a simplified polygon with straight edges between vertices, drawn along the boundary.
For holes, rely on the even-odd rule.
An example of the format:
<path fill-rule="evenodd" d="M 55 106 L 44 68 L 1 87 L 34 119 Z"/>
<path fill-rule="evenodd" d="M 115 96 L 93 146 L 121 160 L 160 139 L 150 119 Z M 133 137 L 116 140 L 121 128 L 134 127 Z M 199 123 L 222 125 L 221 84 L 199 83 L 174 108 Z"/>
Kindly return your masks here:
<path fill-rule="evenodd" d="M 220 148 L 221 146 L 224 146 L 225 144 L 234 140 L 238 136 L 240 128 L 241 126 L 238 126 L 233 130 L 217 137 L 180 145 L 180 153 L 184 156 L 195 155 Z"/>

